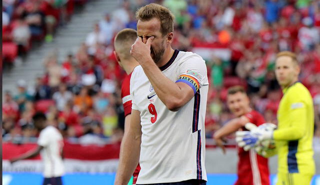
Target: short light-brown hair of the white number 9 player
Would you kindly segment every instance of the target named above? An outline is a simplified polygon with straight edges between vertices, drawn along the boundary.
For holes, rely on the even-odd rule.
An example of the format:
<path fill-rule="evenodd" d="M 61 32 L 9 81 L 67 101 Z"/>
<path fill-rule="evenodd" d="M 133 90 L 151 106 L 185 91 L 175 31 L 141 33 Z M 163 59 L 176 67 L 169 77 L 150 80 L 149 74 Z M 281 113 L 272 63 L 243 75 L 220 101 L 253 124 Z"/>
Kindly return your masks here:
<path fill-rule="evenodd" d="M 168 8 L 159 4 L 151 3 L 140 7 L 135 12 L 135 17 L 141 21 L 157 18 L 160 21 L 160 32 L 162 36 L 173 32 L 174 15 Z"/>

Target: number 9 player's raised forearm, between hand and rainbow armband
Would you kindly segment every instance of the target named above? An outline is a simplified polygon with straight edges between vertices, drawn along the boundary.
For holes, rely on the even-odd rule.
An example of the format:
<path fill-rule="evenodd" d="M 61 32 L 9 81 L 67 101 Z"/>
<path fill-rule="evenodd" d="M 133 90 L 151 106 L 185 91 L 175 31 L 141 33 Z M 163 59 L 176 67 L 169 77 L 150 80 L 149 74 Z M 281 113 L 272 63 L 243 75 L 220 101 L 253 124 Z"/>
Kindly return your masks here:
<path fill-rule="evenodd" d="M 186 103 L 181 101 L 186 93 L 183 93 L 175 82 L 164 76 L 154 63 L 142 66 L 142 68 L 156 95 L 169 110 L 179 109 Z"/>

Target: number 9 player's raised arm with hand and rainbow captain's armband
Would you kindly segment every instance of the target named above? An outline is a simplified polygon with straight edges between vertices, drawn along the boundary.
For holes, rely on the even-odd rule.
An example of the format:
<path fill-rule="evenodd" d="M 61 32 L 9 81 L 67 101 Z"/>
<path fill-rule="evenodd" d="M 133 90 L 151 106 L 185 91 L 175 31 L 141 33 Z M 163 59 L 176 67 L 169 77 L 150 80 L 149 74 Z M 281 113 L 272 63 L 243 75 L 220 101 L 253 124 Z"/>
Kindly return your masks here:
<path fill-rule="evenodd" d="M 188 80 L 189 83 L 183 83 L 184 79 L 180 79 L 181 76 L 179 77 L 180 80 L 176 79 L 176 82 L 171 81 L 169 78 L 164 76 L 150 56 L 150 44 L 152 40 L 153 36 L 149 37 L 144 44 L 141 38 L 138 37 L 132 45 L 130 53 L 143 68 L 143 71 L 151 82 L 156 95 L 163 102 L 163 104 L 170 111 L 177 111 L 194 96 L 196 91 L 199 89 L 199 81 L 195 76 L 192 75 L 191 77 L 189 75 L 186 77 L 188 79 L 185 79 Z M 173 54 L 172 49 L 171 51 Z M 197 59 L 192 58 L 191 60 L 193 60 L 192 62 L 194 63 L 190 69 L 193 69 L 192 67 L 200 67 L 202 70 L 199 76 L 206 75 L 204 61 L 202 61 L 200 57 Z M 187 68 L 185 68 L 185 71 L 181 71 L 181 74 L 185 73 L 186 70 Z"/>

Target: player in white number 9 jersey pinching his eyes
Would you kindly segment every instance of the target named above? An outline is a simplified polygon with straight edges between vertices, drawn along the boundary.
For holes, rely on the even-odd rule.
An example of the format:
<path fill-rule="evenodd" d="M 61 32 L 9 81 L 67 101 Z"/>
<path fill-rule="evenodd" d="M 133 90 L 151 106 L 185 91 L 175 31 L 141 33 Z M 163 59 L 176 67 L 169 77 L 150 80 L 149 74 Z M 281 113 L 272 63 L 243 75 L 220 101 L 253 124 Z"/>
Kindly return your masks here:
<path fill-rule="evenodd" d="M 136 18 L 130 53 L 140 65 L 131 75 L 131 122 L 115 185 L 126 185 L 138 162 L 136 184 L 205 185 L 204 60 L 171 48 L 174 16 L 167 8 L 151 3 Z"/>

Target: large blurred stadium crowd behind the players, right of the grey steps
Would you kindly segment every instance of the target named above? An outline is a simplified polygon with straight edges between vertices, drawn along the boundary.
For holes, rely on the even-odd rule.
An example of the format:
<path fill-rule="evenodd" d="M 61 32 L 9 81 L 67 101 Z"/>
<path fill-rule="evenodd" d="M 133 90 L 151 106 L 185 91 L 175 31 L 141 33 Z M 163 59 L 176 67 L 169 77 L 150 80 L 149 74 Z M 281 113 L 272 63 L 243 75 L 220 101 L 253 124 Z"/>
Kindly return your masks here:
<path fill-rule="evenodd" d="M 11 1 L 4 2 L 8 5 L 2 16 L 4 13 L 12 20 Z M 55 52 L 49 53 L 44 59 L 45 75 L 36 77 L 35 87 L 29 90 L 20 80 L 15 92 L 4 93 L 2 136 L 7 140 L 20 136 L 18 142 L 29 141 L 35 137 L 32 115 L 43 111 L 68 140 L 83 144 L 103 144 L 105 139 L 119 142 L 123 134 L 120 84 L 126 74 L 116 62 L 112 42 L 122 28 L 136 29 L 135 10 L 150 2 L 167 6 L 175 15 L 173 48 L 229 51 L 226 57 L 204 57 L 210 80 L 206 137 L 211 138 L 232 118 L 225 105 L 227 88 L 232 85 L 243 85 L 251 106 L 262 113 L 266 122 L 276 123 L 282 92 L 273 72 L 274 58 L 283 50 L 298 56 L 299 79 L 313 97 L 315 136 L 320 137 L 320 0 L 123 1 L 94 23 L 76 53 L 68 54 L 64 61 L 57 61 Z M 29 14 L 38 8 L 31 5 Z M 27 14 L 17 18 L 18 25 L 28 25 L 30 34 L 36 35 L 39 30 L 34 28 L 34 32 Z M 45 16 L 43 23 L 47 27 L 52 23 L 49 20 Z"/>

